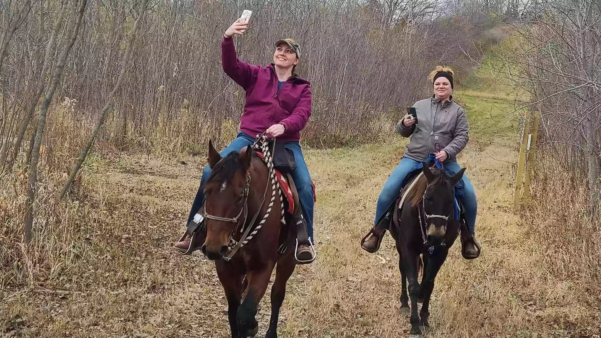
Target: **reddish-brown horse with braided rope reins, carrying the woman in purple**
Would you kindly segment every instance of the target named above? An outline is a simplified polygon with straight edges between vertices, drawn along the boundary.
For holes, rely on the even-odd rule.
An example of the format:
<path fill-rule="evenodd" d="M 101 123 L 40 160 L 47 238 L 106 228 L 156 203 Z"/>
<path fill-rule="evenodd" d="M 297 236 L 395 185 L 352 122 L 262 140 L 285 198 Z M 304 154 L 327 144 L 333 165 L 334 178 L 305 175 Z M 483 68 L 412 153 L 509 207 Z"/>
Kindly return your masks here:
<path fill-rule="evenodd" d="M 269 156 L 263 161 L 248 146 L 222 158 L 209 141 L 211 174 L 203 187 L 207 237 L 201 250 L 215 261 L 228 301 L 232 338 L 257 334 L 257 304 L 276 263 L 266 338 L 278 336 L 279 309 L 296 266 L 296 235 L 290 219 L 284 219 L 282 203 L 275 198 L 279 188 Z"/>

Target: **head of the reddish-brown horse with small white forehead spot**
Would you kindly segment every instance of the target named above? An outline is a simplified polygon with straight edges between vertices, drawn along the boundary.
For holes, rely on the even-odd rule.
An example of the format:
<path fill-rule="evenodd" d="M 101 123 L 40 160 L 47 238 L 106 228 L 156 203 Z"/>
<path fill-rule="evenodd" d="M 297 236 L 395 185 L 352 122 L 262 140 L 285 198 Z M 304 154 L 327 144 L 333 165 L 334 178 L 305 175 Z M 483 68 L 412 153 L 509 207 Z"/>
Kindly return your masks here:
<path fill-rule="evenodd" d="M 207 238 L 201 251 L 211 260 L 225 256 L 230 236 L 245 222 L 252 151 L 248 146 L 222 158 L 209 141 L 211 174 L 203 186 Z"/>

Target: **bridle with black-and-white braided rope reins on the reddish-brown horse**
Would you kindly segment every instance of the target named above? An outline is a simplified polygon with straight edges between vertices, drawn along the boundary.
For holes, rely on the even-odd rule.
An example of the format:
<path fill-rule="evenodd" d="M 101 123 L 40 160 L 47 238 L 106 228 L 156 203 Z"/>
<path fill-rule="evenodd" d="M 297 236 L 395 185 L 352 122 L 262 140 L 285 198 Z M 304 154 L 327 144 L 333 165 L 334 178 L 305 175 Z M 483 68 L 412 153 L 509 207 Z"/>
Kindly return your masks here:
<path fill-rule="evenodd" d="M 236 227 L 234 227 L 234 230 L 230 233 L 230 238 L 228 240 L 228 249 L 230 252 L 228 253 L 227 256 L 224 256 L 222 258 L 225 261 L 230 260 L 231 257 L 233 257 L 234 254 L 236 254 L 236 252 L 241 247 L 243 247 L 245 244 L 247 244 L 248 241 L 250 241 L 254 237 L 254 235 L 257 234 L 258 230 L 261 229 L 261 227 L 267 220 L 267 217 L 269 217 L 269 214 L 271 212 L 271 208 L 273 205 L 273 201 L 275 200 L 275 191 L 276 191 L 276 189 L 275 189 L 275 171 L 273 170 L 273 156 L 272 156 L 273 149 L 275 149 L 275 140 L 273 140 L 272 152 L 269 152 L 269 146 L 267 145 L 267 142 L 266 142 L 267 137 L 265 137 L 264 134 L 265 133 L 258 135 L 257 140 L 255 140 L 254 143 L 252 143 L 252 145 L 251 145 L 251 149 L 259 149 L 260 148 L 261 151 L 263 152 L 265 162 L 267 164 L 267 170 L 269 171 L 269 176 L 271 177 L 271 183 L 272 183 L 272 198 L 271 198 L 269 207 L 267 208 L 265 215 L 263 216 L 263 220 L 261 220 L 261 222 L 258 224 L 258 226 L 251 233 L 252 226 L 255 223 L 255 221 L 257 221 L 257 218 L 261 212 L 261 209 L 263 209 L 262 206 L 263 206 L 263 203 L 265 203 L 267 189 L 269 189 L 269 181 L 270 181 L 269 179 L 267 179 L 267 183 L 265 185 L 265 190 L 263 191 L 263 197 L 261 197 L 261 201 L 259 203 L 257 212 L 255 212 L 251 221 L 248 223 L 248 227 L 246 227 L 245 232 L 240 237 L 240 241 L 236 242 L 234 240 L 234 235 L 236 234 L 236 231 L 240 227 L 240 224 L 242 224 L 242 227 L 240 228 L 240 232 L 242 232 L 245 229 L 244 225 L 246 224 L 246 220 L 248 219 L 248 195 L 249 195 L 250 187 L 251 187 L 250 173 L 246 174 L 246 188 L 244 189 L 243 204 L 242 204 L 242 208 L 240 208 L 240 212 L 238 213 L 238 215 L 236 217 L 234 217 L 234 218 L 219 217 L 219 216 L 215 216 L 215 215 L 210 215 L 206 211 L 204 212 L 204 217 L 208 218 L 209 220 L 230 222 L 230 223 L 236 224 Z M 260 147 L 257 146 L 258 143 L 261 143 Z M 219 161 L 221 161 L 221 160 L 219 160 Z M 219 163 L 219 162 L 217 162 L 217 163 Z M 279 191 L 279 189 L 278 189 L 278 191 Z M 280 198 L 281 198 L 281 195 L 280 195 Z M 205 200 L 205 204 L 206 204 L 206 200 Z M 283 209 L 282 209 L 282 211 L 283 211 Z M 242 218 L 240 218 L 242 216 L 242 213 L 244 213 L 244 220 L 242 222 L 240 222 L 240 220 L 242 220 Z"/>

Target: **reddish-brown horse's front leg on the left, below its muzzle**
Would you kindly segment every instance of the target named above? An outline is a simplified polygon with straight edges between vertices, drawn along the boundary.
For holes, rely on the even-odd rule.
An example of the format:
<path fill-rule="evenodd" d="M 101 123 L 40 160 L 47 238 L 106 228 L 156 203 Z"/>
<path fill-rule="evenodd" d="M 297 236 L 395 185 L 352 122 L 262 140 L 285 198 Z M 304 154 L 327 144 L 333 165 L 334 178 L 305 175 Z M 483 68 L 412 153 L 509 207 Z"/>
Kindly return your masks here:
<path fill-rule="evenodd" d="M 224 287 L 225 298 L 227 298 L 227 318 L 230 322 L 231 337 L 238 338 L 238 329 L 236 325 L 236 314 L 240 307 L 242 299 L 242 278 L 243 274 L 234 269 L 231 263 L 224 261 L 215 262 L 215 268 L 219 281 Z"/>

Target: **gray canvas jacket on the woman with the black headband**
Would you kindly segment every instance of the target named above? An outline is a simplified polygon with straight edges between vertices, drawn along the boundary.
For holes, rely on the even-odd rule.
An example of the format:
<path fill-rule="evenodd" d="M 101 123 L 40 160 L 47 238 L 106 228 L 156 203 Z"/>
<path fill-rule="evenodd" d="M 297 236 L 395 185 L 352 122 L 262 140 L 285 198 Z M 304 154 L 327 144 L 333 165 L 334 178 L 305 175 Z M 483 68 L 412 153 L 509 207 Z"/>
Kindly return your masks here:
<path fill-rule="evenodd" d="M 445 162 L 456 161 L 469 140 L 468 117 L 465 110 L 453 102 L 453 96 L 444 103 L 433 95 L 429 99 L 419 100 L 413 105 L 417 113 L 418 123 L 410 128 L 403 126 L 403 120 L 397 123 L 398 134 L 410 137 L 405 157 L 414 161 L 424 161 L 430 153 L 435 152 L 438 142 L 442 150 L 447 152 Z"/>

